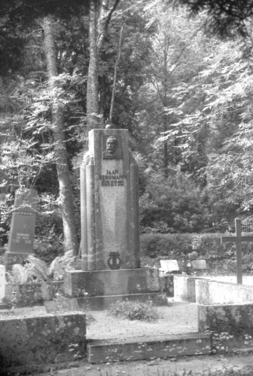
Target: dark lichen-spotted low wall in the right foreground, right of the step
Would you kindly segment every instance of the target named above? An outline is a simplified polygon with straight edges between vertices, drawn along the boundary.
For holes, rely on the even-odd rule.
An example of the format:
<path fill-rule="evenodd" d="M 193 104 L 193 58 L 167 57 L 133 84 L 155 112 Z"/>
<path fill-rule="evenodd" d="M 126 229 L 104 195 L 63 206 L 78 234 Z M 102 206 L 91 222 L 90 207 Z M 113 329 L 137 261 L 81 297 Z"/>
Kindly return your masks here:
<path fill-rule="evenodd" d="M 253 347 L 253 304 L 199 305 L 198 315 L 199 330 L 209 330 L 218 349 Z"/>

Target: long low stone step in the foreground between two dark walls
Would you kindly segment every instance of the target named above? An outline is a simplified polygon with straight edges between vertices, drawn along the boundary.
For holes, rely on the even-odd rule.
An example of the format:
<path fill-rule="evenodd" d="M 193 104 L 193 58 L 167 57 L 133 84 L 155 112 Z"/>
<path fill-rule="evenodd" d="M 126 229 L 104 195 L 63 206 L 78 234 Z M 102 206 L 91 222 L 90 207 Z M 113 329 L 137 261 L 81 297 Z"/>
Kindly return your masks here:
<path fill-rule="evenodd" d="M 204 333 L 171 334 L 167 336 L 132 337 L 128 339 L 90 339 L 87 360 L 107 363 L 141 359 L 166 358 L 185 355 L 209 354 L 210 336 Z"/>

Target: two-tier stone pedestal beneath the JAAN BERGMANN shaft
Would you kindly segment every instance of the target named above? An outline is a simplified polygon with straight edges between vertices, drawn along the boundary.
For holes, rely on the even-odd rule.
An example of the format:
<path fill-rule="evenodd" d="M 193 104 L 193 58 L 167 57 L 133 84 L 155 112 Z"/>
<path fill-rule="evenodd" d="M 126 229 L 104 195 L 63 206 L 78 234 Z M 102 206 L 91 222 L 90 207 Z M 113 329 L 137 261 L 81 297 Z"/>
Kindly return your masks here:
<path fill-rule="evenodd" d="M 119 270 L 68 270 L 65 293 L 75 297 L 80 306 L 105 309 L 119 300 L 152 301 L 167 305 L 166 292 L 161 292 L 159 271 L 154 268 Z"/>

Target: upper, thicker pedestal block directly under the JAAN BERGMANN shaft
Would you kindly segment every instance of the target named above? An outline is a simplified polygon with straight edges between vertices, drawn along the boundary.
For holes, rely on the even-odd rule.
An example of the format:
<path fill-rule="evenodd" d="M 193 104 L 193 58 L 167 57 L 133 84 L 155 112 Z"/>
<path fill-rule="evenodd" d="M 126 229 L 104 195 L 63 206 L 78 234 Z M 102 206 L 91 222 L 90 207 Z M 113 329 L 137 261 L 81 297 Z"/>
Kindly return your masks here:
<path fill-rule="evenodd" d="M 156 268 L 65 272 L 65 294 L 70 297 L 151 292 L 160 292 L 159 271 Z"/>

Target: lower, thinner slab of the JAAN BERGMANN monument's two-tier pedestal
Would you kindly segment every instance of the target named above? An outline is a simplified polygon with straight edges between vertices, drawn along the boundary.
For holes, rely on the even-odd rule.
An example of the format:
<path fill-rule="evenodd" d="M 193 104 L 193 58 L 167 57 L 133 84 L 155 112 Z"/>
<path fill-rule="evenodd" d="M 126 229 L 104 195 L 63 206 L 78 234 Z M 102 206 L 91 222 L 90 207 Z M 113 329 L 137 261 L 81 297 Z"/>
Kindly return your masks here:
<path fill-rule="evenodd" d="M 167 294 L 166 293 L 148 293 L 148 294 L 126 294 L 126 295 L 107 295 L 107 296 L 93 296 L 93 297 L 79 297 L 77 302 L 80 308 L 103 310 L 108 309 L 109 306 L 118 301 L 140 301 L 140 302 L 150 302 L 153 305 L 168 305 Z"/>

